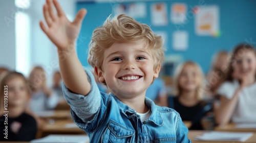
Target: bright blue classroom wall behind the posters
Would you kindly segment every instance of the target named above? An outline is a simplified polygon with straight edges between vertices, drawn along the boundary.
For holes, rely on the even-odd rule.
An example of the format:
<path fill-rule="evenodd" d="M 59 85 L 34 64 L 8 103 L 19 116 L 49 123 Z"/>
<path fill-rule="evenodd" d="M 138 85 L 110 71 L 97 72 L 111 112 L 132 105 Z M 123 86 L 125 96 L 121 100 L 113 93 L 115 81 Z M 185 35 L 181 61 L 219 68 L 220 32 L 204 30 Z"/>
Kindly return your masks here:
<path fill-rule="evenodd" d="M 137 2 L 137 1 L 136 1 Z M 195 20 L 188 18 L 188 22 L 179 30 L 188 32 L 188 49 L 186 51 L 175 51 L 172 47 L 172 33 L 177 30 L 177 25 L 170 21 L 170 6 L 174 3 L 185 3 L 187 12 L 192 7 L 199 5 L 200 1 L 141 1 L 146 4 L 146 17 L 136 19 L 142 23 L 150 25 L 153 31 L 167 32 L 165 40 L 167 51 L 165 55 L 182 55 L 183 60 L 193 60 L 199 63 L 206 74 L 210 68 L 211 59 L 220 50 L 231 51 L 238 43 L 256 45 L 256 1 L 254 0 L 225 0 L 210 1 L 205 0 L 206 6 L 217 5 L 220 10 L 220 37 L 198 36 L 195 33 Z M 168 25 L 156 27 L 151 25 L 151 5 L 163 2 L 167 6 Z M 202 2 L 202 1 L 201 1 Z M 200 3 L 201 3 L 200 2 Z M 125 2 L 131 3 L 131 2 Z M 77 2 L 76 10 L 86 8 L 88 13 L 83 20 L 81 33 L 77 41 L 77 54 L 83 66 L 89 66 L 87 55 L 90 37 L 93 30 L 101 26 L 104 20 L 112 13 L 112 7 L 116 1 L 109 2 Z M 192 7 L 191 7 L 192 6 Z"/>

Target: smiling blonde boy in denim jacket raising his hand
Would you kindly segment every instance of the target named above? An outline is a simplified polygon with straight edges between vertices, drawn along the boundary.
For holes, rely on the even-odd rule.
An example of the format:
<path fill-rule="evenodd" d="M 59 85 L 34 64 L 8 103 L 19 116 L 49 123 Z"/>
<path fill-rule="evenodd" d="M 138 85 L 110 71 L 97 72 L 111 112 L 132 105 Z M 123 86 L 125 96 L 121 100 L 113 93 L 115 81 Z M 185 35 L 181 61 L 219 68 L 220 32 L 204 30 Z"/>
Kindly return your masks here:
<path fill-rule="evenodd" d="M 57 46 L 63 93 L 73 120 L 91 142 L 190 142 L 179 113 L 145 99 L 148 86 L 158 78 L 164 59 L 162 39 L 150 27 L 119 15 L 94 30 L 88 62 L 110 94 L 100 92 L 93 74 L 83 69 L 75 52 L 76 35 L 86 15 L 82 9 L 73 22 L 53 0 L 44 5 L 48 28 L 41 29 Z M 64 55 L 64 56 L 63 56 Z M 84 70 L 86 72 L 84 72 Z"/>

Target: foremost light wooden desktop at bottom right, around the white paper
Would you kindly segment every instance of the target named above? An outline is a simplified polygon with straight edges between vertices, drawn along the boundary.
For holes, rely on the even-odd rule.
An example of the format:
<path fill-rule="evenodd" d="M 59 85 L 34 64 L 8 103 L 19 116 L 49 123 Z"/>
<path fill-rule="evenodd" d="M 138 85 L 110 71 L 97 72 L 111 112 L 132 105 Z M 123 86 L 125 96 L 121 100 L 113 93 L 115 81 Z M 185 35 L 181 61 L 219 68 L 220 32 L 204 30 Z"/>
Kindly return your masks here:
<path fill-rule="evenodd" d="M 234 143 L 234 142 L 241 142 L 241 141 L 197 141 L 195 140 L 197 135 L 202 135 L 203 133 L 208 132 L 208 131 L 196 131 L 196 130 L 189 130 L 188 132 L 188 138 L 193 142 L 193 143 Z M 253 135 L 244 141 L 244 143 L 255 143 L 256 142 L 256 133 L 253 133 Z"/>

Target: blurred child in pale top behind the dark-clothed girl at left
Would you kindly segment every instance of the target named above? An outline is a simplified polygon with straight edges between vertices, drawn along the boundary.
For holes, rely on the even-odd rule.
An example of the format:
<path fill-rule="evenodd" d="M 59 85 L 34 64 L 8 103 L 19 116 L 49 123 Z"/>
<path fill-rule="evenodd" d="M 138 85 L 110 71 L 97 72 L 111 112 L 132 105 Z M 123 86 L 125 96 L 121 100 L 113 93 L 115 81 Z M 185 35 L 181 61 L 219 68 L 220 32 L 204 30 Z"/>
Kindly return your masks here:
<path fill-rule="evenodd" d="M 35 66 L 29 76 L 29 85 L 32 91 L 30 108 L 35 114 L 53 109 L 58 104 L 56 92 L 46 85 L 46 73 L 40 66 Z"/>

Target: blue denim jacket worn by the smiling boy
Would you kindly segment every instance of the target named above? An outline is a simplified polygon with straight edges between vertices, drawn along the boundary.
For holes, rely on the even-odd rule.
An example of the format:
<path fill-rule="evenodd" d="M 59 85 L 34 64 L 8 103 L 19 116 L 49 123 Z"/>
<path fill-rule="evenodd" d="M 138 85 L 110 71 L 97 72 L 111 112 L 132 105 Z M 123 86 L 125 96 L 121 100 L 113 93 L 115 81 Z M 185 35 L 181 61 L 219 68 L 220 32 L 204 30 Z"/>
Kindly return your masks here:
<path fill-rule="evenodd" d="M 85 70 L 91 83 L 87 96 L 71 92 L 64 84 L 62 87 L 75 124 L 86 131 L 90 142 L 191 142 L 174 109 L 159 107 L 146 98 L 151 116 L 141 122 L 140 115 L 113 93 L 100 92 L 91 71 Z"/>

